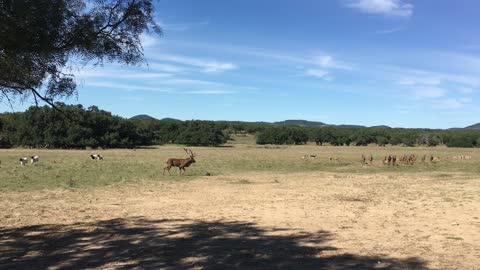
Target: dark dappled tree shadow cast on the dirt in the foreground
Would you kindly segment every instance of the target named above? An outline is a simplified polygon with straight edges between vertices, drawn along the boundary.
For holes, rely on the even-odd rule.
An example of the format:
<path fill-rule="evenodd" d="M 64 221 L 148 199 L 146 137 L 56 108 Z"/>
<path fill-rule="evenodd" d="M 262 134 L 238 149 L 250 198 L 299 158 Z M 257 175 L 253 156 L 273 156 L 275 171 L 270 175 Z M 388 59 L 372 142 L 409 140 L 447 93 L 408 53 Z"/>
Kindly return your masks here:
<path fill-rule="evenodd" d="M 426 269 L 418 258 L 339 255 L 331 238 L 254 223 L 145 218 L 0 228 L 0 269 Z"/>

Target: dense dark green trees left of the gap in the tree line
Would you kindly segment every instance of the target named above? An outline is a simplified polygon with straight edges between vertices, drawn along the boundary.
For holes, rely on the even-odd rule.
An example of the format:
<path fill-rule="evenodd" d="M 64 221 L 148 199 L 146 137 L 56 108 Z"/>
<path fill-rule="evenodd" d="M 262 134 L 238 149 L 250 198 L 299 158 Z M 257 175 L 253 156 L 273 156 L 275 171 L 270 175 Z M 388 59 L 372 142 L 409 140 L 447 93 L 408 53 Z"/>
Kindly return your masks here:
<path fill-rule="evenodd" d="M 132 148 L 164 143 L 217 146 L 228 134 L 212 121 L 133 120 L 96 106 L 56 103 L 0 114 L 0 147 Z"/>

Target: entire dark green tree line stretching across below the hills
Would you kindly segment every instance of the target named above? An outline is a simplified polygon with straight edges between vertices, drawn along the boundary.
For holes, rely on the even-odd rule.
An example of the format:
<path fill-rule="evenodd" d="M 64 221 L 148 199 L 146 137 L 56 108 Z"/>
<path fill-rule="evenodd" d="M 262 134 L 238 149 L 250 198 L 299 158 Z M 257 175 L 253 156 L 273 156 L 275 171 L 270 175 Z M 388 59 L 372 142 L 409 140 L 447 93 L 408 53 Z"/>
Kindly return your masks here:
<path fill-rule="evenodd" d="M 0 147 L 132 148 L 175 143 L 218 146 L 231 134 L 256 134 L 257 144 L 368 144 L 480 147 L 480 130 L 404 129 L 386 127 L 302 127 L 239 121 L 125 119 L 96 106 L 56 103 L 25 112 L 0 114 Z"/>

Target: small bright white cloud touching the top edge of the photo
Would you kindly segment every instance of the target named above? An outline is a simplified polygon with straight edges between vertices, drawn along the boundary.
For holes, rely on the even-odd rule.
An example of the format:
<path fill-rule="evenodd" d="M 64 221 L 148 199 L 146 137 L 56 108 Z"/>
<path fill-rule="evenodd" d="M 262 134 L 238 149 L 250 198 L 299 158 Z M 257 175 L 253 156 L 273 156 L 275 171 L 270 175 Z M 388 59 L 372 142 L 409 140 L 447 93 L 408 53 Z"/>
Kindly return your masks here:
<path fill-rule="evenodd" d="M 369 14 L 410 17 L 414 6 L 403 0 L 347 0 L 346 6 Z"/>

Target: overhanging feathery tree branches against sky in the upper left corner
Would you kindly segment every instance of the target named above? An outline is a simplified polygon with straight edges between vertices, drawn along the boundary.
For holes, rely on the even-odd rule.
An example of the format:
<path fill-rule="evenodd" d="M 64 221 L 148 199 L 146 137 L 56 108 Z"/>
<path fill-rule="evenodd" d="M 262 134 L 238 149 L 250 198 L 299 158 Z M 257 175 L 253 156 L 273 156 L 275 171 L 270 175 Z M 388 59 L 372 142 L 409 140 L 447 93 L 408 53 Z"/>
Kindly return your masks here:
<path fill-rule="evenodd" d="M 137 64 L 152 0 L 0 0 L 0 98 L 75 94 L 75 63 Z"/>

